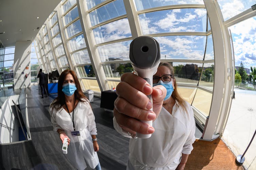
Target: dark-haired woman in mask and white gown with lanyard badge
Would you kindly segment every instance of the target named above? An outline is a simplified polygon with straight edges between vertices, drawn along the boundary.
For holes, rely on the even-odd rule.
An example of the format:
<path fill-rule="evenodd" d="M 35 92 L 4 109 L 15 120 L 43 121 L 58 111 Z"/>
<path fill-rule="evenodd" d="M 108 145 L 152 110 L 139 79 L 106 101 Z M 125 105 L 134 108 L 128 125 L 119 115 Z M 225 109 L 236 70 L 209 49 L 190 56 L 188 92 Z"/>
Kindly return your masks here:
<path fill-rule="evenodd" d="M 100 170 L 95 118 L 74 71 L 65 70 L 60 74 L 58 97 L 51 103 L 49 113 L 53 130 L 59 133 L 62 143 L 68 138 L 70 163 L 79 170 L 84 170 L 86 163 Z"/>

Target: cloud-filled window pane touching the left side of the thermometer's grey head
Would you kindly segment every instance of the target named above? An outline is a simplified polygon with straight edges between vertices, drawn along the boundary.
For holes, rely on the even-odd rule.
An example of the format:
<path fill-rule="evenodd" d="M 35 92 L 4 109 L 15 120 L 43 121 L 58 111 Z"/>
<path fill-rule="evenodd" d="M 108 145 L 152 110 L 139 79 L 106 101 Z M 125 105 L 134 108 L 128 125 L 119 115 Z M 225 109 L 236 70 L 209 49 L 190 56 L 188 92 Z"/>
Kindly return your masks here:
<path fill-rule="evenodd" d="M 102 62 L 112 60 L 130 60 L 130 44 L 131 40 L 99 46 L 98 51 L 100 60 Z"/>

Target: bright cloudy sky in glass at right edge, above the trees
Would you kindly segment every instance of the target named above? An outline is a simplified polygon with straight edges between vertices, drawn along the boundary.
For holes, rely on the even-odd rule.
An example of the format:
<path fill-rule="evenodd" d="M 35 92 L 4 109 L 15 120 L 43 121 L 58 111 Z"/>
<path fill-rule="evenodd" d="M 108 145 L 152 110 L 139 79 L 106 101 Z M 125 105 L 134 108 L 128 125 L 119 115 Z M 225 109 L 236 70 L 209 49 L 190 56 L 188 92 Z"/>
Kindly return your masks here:
<path fill-rule="evenodd" d="M 246 25 L 246 26 L 245 26 Z M 256 67 L 256 17 L 230 27 L 233 39 L 235 65 Z"/>

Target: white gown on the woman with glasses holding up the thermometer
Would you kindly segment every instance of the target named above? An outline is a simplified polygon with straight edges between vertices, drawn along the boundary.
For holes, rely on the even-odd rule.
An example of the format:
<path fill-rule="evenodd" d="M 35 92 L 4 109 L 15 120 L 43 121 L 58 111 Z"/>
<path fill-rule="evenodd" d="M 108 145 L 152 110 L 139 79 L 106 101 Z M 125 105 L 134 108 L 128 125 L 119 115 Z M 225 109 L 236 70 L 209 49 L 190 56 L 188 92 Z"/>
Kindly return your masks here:
<path fill-rule="evenodd" d="M 176 102 L 170 114 L 164 107 L 153 122 L 154 133 L 148 139 L 130 139 L 127 170 L 175 170 L 181 153 L 190 154 L 195 139 L 194 113 L 186 102 L 186 111 Z M 121 135 L 127 132 L 113 118 L 114 128 Z"/>

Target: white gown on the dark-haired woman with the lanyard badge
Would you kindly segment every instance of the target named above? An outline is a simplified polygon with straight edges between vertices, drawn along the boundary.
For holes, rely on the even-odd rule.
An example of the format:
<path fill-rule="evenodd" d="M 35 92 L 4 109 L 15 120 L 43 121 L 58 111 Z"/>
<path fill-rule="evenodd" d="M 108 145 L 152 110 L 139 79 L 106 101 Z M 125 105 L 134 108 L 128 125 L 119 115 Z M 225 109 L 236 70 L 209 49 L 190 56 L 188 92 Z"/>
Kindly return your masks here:
<path fill-rule="evenodd" d="M 64 108 L 56 111 L 55 108 L 50 107 L 49 113 L 53 130 L 63 129 L 70 138 L 67 158 L 71 164 L 79 170 L 84 170 L 87 167 L 86 163 L 92 169 L 95 168 L 99 163 L 99 159 L 97 152 L 94 151 L 91 135 L 97 135 L 97 130 L 89 101 L 79 101 L 74 112 L 71 112 L 71 116 Z M 74 131 L 71 119 L 73 113 L 75 130 L 80 131 L 80 136 L 71 135 L 71 131 Z"/>

